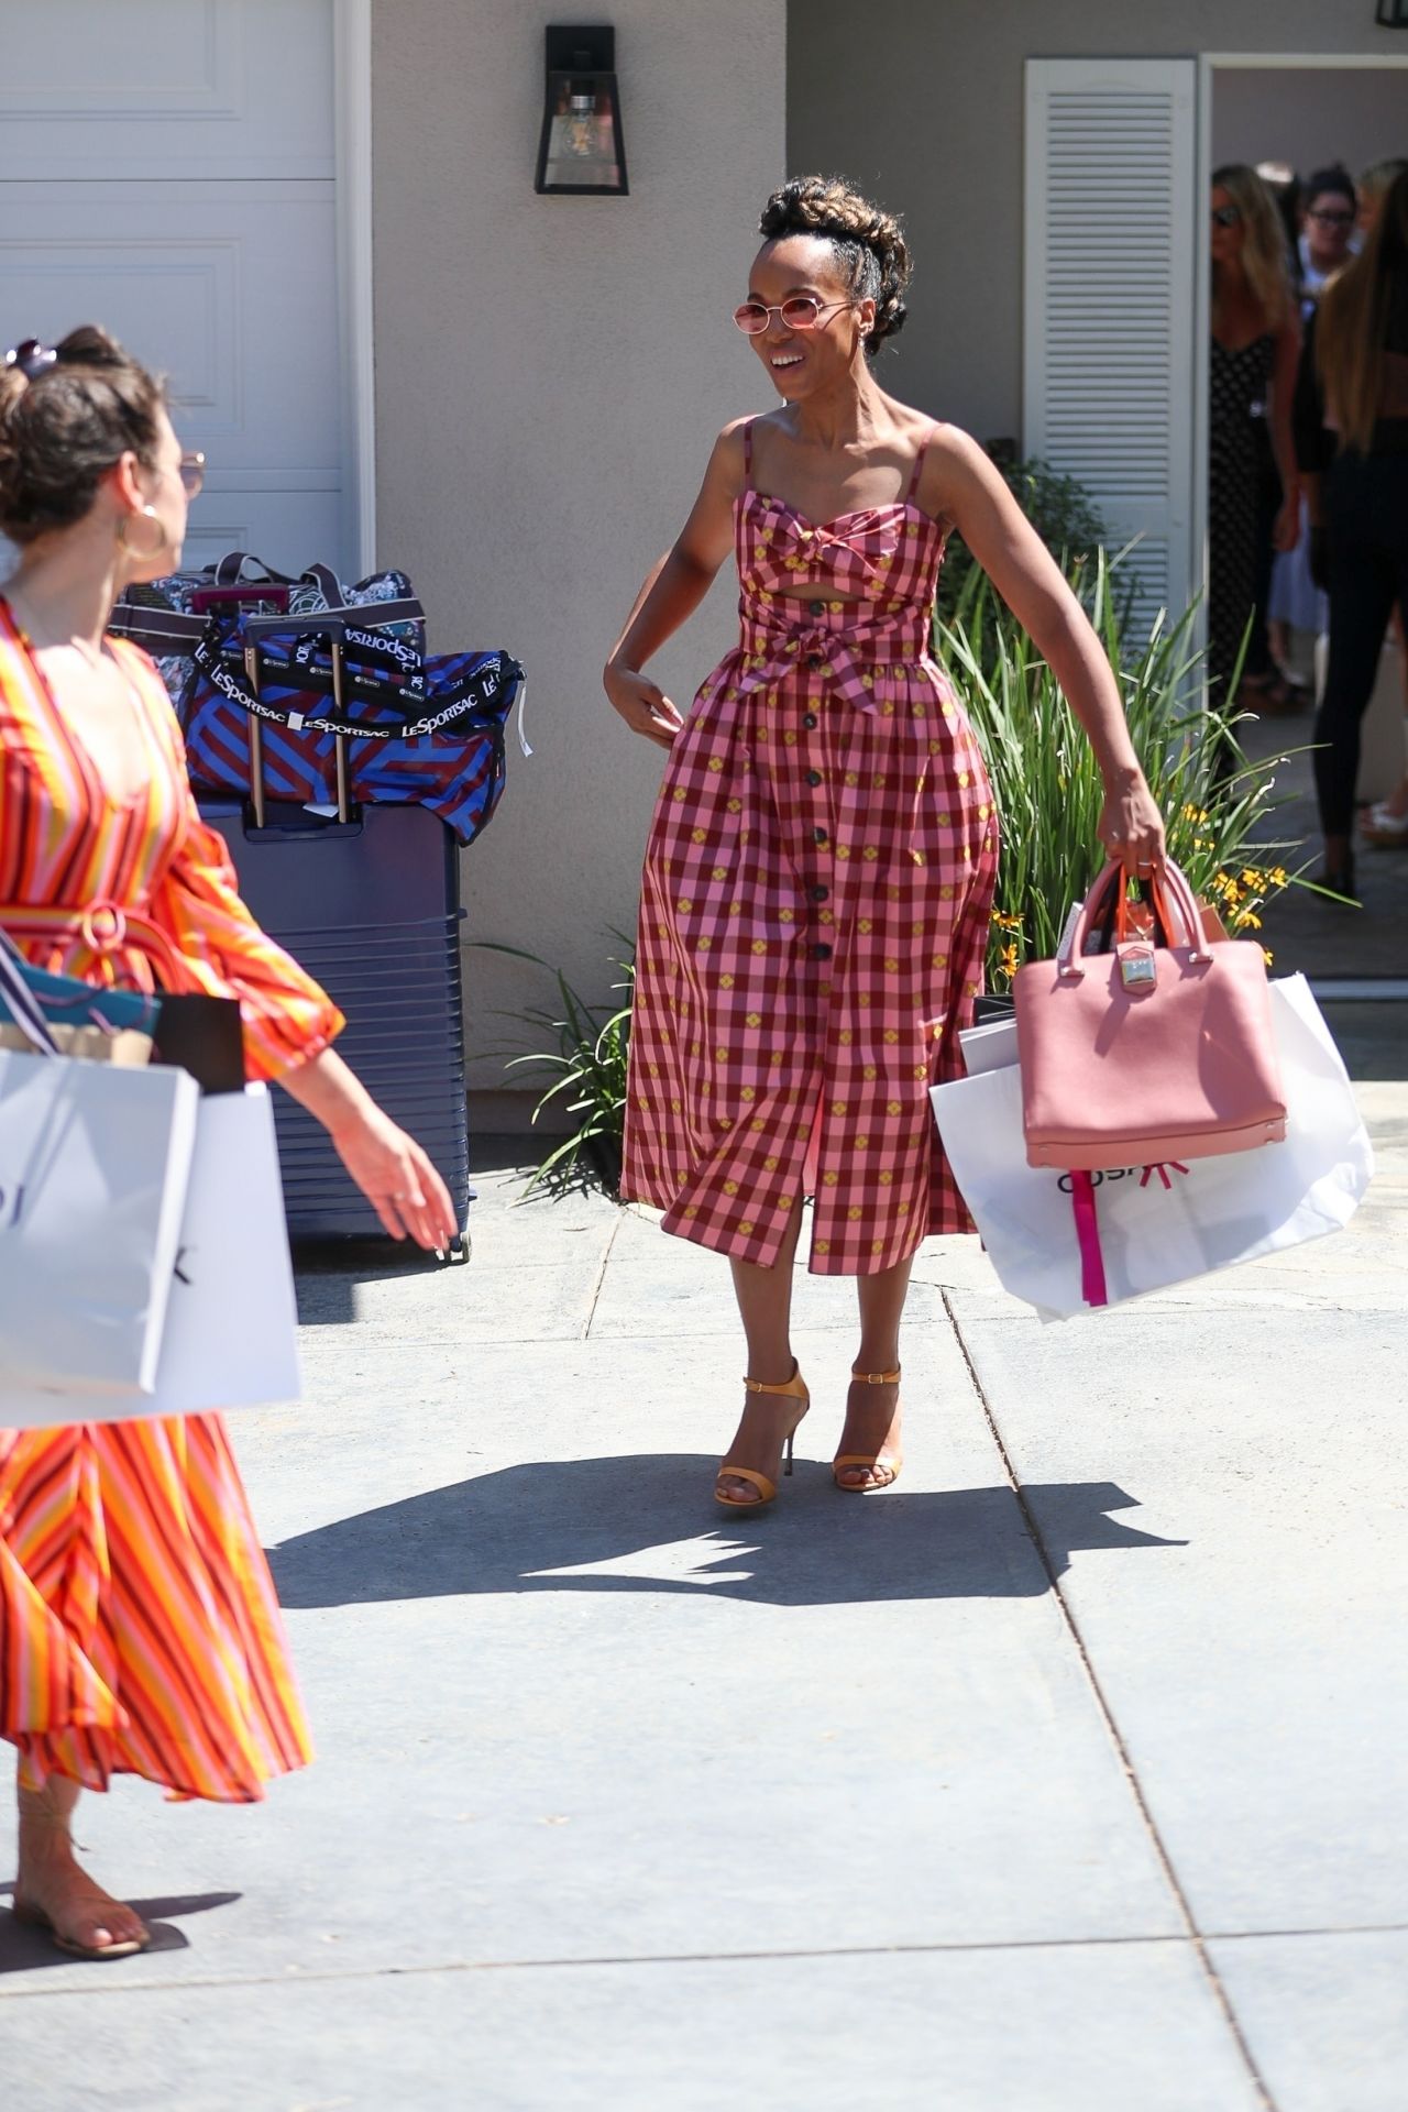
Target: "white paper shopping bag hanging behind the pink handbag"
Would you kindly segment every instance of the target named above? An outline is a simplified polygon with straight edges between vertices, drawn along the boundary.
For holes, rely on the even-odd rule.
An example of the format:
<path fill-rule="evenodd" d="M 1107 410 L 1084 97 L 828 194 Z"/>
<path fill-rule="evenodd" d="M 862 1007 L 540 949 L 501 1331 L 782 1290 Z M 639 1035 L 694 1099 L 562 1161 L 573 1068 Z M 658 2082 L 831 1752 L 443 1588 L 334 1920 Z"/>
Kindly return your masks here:
<path fill-rule="evenodd" d="M 1091 1174 L 1110 1305 L 1338 1231 L 1374 1162 L 1349 1075 L 1305 976 L 1271 984 L 1286 1143 Z M 954 1178 L 992 1265 L 1043 1318 L 1089 1312 L 1072 1176 L 1026 1164 L 1015 1029 L 1009 1062 L 931 1090 Z M 982 1060 L 1003 1050 L 988 1035 Z"/>

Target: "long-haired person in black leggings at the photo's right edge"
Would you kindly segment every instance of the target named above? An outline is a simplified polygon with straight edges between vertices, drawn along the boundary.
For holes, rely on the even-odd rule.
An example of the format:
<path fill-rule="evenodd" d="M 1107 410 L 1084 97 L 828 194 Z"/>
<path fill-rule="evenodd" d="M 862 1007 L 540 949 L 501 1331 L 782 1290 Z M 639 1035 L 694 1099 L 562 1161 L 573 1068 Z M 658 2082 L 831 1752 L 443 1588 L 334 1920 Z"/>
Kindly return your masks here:
<path fill-rule="evenodd" d="M 1315 718 L 1319 885 L 1353 895 L 1359 720 L 1393 606 L 1408 610 L 1408 173 L 1393 182 L 1362 253 L 1321 296 L 1294 429 L 1313 568 L 1330 593 L 1330 667 Z"/>

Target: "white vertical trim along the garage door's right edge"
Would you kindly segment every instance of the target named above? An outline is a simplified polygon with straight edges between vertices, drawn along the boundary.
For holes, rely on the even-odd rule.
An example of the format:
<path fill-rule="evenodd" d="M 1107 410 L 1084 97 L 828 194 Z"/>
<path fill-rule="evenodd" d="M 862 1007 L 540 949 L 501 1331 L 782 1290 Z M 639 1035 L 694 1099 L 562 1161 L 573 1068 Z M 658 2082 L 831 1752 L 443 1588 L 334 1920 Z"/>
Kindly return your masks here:
<path fill-rule="evenodd" d="M 334 0 L 338 323 L 348 564 L 376 570 L 376 336 L 372 304 L 372 0 Z"/>

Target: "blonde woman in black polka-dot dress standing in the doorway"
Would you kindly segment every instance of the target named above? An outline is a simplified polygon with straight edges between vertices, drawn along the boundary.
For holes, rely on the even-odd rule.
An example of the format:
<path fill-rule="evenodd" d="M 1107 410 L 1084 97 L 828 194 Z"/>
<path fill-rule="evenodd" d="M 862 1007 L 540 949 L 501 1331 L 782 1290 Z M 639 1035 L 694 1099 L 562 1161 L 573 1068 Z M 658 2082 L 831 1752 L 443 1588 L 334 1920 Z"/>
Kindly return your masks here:
<path fill-rule="evenodd" d="M 1275 201 L 1254 169 L 1212 177 L 1212 351 L 1207 389 L 1207 676 L 1212 703 L 1231 703 L 1233 672 L 1256 602 L 1256 433 L 1267 406 L 1281 477 L 1273 543 L 1292 549 L 1300 482 L 1290 408 L 1300 323 Z M 1252 701 L 1286 705 L 1275 682 L 1243 682 Z M 1264 691 L 1264 697 L 1260 695 Z"/>

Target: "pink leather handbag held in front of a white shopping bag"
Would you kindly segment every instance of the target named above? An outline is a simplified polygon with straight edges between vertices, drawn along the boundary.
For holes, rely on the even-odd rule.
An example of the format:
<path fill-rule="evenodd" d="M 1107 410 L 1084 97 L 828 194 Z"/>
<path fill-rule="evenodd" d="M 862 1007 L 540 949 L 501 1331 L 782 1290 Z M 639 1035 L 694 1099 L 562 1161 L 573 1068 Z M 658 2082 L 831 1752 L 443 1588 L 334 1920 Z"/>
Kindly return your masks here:
<path fill-rule="evenodd" d="M 1028 1166 L 1108 1170 L 1279 1143 L 1286 1098 L 1262 948 L 1205 940 L 1178 866 L 1155 881 L 1167 944 L 1136 938 L 1125 885 L 1106 866 L 1058 959 L 1017 969 Z M 1110 887 L 1117 944 L 1087 955 Z"/>

